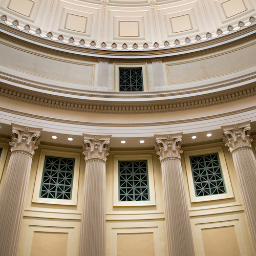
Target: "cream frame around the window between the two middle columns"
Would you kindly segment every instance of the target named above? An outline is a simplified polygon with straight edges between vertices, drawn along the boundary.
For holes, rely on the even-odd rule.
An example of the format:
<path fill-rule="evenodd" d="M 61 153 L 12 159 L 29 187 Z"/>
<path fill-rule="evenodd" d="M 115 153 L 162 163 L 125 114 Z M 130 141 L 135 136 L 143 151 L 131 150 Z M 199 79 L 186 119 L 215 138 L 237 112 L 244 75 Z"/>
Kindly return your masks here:
<path fill-rule="evenodd" d="M 118 161 L 147 161 L 148 189 L 150 200 L 147 201 L 119 201 L 119 164 Z M 155 182 L 152 155 L 114 155 L 113 170 L 113 206 L 150 206 L 156 205 Z"/>

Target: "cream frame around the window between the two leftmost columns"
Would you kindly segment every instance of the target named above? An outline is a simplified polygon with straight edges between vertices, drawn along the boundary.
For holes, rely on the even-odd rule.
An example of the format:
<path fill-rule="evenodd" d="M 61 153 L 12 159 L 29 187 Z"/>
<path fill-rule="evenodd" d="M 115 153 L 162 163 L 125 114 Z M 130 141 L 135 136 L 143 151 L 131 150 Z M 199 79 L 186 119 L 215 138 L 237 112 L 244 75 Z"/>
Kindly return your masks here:
<path fill-rule="evenodd" d="M 42 173 L 44 170 L 46 156 L 74 158 L 75 159 L 71 200 L 39 197 L 41 181 L 42 181 Z M 80 153 L 79 152 L 76 153 L 76 152 L 66 152 L 66 151 L 57 151 L 57 150 L 53 151 L 53 150 L 46 150 L 43 148 L 41 150 L 40 156 L 39 156 L 32 202 L 33 203 L 45 203 L 45 204 L 77 205 L 79 166 L 80 166 Z"/>

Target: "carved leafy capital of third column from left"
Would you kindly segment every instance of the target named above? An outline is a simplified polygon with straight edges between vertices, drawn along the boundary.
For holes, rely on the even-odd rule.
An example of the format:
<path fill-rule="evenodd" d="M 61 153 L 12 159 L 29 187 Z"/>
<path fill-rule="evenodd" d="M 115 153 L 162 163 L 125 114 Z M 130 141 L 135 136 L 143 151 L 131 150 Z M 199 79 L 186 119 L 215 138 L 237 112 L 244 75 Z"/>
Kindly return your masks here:
<path fill-rule="evenodd" d="M 182 133 L 171 134 L 171 135 L 155 135 L 156 146 L 155 150 L 159 156 L 159 160 L 162 162 L 167 158 L 178 158 L 180 159 Z"/>

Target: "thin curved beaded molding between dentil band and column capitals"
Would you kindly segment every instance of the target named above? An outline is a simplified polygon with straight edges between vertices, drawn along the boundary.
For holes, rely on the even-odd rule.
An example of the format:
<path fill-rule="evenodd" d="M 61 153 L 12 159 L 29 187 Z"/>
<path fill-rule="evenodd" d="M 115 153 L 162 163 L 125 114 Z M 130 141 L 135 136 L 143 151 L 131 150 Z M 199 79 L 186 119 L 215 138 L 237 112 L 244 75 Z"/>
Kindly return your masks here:
<path fill-rule="evenodd" d="M 252 111 L 252 110 L 256 110 L 256 106 L 251 106 L 250 108 L 231 111 L 231 112 L 218 114 L 218 115 L 205 116 L 205 117 L 199 117 L 199 118 L 191 118 L 191 119 L 183 119 L 183 120 L 176 120 L 176 121 L 153 122 L 153 123 L 95 123 L 95 122 L 73 121 L 73 120 L 33 115 L 33 114 L 25 113 L 25 112 L 20 112 L 20 111 L 10 110 L 10 109 L 0 107 L 0 111 L 6 112 L 6 113 L 11 113 L 14 115 L 19 115 L 19 116 L 26 116 L 26 117 L 30 117 L 30 118 L 47 120 L 47 121 L 51 121 L 51 122 L 69 123 L 69 124 L 75 124 L 75 125 L 78 124 L 78 125 L 88 125 L 88 126 L 103 126 L 103 127 L 104 126 L 106 126 L 106 127 L 139 127 L 139 126 L 172 125 L 172 124 L 198 122 L 198 121 L 210 120 L 210 119 L 215 119 L 215 118 L 221 118 L 221 117 L 226 117 L 226 116 L 230 116 L 230 115 L 245 113 L 245 112 Z"/>

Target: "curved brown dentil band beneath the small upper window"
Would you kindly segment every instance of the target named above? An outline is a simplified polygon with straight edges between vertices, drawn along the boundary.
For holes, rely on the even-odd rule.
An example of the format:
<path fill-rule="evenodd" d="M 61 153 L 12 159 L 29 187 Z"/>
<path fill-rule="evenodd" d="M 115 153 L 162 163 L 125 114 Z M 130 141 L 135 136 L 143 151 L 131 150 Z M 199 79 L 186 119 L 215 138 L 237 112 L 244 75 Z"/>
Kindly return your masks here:
<path fill-rule="evenodd" d="M 163 112 L 174 112 L 183 111 L 190 109 L 205 108 L 207 106 L 223 104 L 227 102 L 232 102 L 244 98 L 248 98 L 256 95 L 256 87 L 251 85 L 251 88 L 246 88 L 239 90 L 237 92 L 224 91 L 221 95 L 206 95 L 205 98 L 193 98 L 187 101 L 175 102 L 176 100 L 168 100 L 168 102 L 162 103 L 147 103 L 139 104 L 138 102 L 127 102 L 127 104 L 114 105 L 113 103 L 106 102 L 86 102 L 81 103 L 86 100 L 77 100 L 76 102 L 64 101 L 61 99 L 46 98 L 45 95 L 33 95 L 29 94 L 31 92 L 18 92 L 13 91 L 10 88 L 4 88 L 0 85 L 0 96 L 10 98 L 17 101 L 27 102 L 31 104 L 46 106 L 47 108 L 57 108 L 68 111 L 78 111 L 78 112 L 91 112 L 91 113 L 106 113 L 106 114 L 151 114 L 151 113 L 163 113 Z M 208 96 L 208 97 L 207 97 Z"/>

